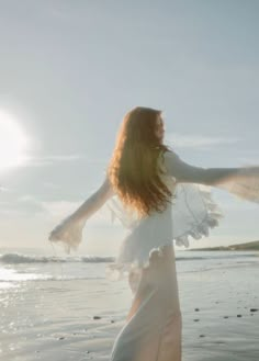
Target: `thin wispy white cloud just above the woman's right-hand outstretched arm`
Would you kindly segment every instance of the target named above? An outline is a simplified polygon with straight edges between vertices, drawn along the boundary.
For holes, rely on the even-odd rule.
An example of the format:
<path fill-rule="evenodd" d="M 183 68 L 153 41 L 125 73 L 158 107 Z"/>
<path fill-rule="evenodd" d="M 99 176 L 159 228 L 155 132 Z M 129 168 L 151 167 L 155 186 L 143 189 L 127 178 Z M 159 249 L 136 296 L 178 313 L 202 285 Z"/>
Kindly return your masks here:
<path fill-rule="evenodd" d="M 235 144 L 241 138 L 239 137 L 214 137 L 209 135 L 182 135 L 179 133 L 172 133 L 167 135 L 167 140 L 179 148 L 209 148 L 212 146 Z"/>

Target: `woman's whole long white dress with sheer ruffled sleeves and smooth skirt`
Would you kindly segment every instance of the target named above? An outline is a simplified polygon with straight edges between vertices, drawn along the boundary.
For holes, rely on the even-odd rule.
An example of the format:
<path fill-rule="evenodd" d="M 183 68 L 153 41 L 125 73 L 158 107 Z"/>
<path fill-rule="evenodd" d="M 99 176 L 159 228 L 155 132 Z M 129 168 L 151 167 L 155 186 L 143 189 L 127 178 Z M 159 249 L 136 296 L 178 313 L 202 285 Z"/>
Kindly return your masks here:
<path fill-rule="evenodd" d="M 209 229 L 218 225 L 223 214 L 212 200 L 212 185 L 259 203 L 258 166 L 204 169 L 183 162 L 174 151 L 161 154 L 158 165 L 166 171 L 161 179 L 173 194 L 164 212 L 139 219 L 136 213 L 125 211 L 105 180 L 81 211 L 49 236 L 63 241 L 67 250 L 77 248 L 86 221 L 104 204 L 128 229 L 114 263 L 106 267 L 109 279 L 128 278 L 133 294 L 111 361 L 181 360 L 182 317 L 173 240 L 188 248 L 190 237 L 209 236 Z"/>

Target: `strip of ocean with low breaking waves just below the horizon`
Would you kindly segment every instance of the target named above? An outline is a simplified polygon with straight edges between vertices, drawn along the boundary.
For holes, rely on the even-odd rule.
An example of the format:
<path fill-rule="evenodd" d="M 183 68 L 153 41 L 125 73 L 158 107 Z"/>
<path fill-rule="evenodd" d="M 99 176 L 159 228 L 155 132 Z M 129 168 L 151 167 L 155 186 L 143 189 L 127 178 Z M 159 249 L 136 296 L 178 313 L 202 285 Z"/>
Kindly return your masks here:
<path fill-rule="evenodd" d="M 178 274 L 259 263 L 259 251 L 176 251 Z M 41 256 L 38 249 L 0 249 L 0 289 L 30 281 L 104 280 L 113 257 Z"/>

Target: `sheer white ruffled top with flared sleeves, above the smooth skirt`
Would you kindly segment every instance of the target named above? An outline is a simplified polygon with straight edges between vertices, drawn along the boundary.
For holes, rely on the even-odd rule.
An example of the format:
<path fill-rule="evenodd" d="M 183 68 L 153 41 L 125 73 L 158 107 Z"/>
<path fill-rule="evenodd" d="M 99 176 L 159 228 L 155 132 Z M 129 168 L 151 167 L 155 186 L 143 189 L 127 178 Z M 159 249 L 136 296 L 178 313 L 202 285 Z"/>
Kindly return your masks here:
<path fill-rule="evenodd" d="M 188 165 L 174 153 L 160 154 L 158 166 L 165 173 L 162 181 L 173 194 L 167 208 L 138 218 L 128 212 L 105 179 L 72 215 L 64 219 L 50 234 L 49 239 L 61 241 L 66 251 L 77 249 L 82 239 L 87 219 L 104 206 L 112 219 L 120 219 L 128 229 L 114 263 L 106 268 L 112 280 L 128 275 L 131 270 L 147 268 L 153 249 L 160 249 L 173 240 L 188 248 L 189 239 L 209 236 L 210 228 L 218 225 L 223 212 L 212 198 L 212 187 L 251 202 L 259 203 L 259 166 L 239 168 L 202 168 Z"/>

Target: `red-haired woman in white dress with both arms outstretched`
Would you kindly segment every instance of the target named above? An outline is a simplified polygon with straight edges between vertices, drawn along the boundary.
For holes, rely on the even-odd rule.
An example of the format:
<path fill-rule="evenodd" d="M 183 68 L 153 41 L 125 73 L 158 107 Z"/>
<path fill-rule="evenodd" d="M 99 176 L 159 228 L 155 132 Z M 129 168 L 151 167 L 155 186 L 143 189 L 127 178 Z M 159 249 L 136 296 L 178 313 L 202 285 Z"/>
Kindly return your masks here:
<path fill-rule="evenodd" d="M 193 167 L 164 145 L 161 111 L 135 108 L 117 135 L 106 178 L 49 235 L 77 249 L 86 221 L 104 203 L 130 232 L 108 275 L 128 277 L 133 292 L 112 361 L 180 361 L 182 318 L 172 240 L 189 247 L 223 216 L 209 185 L 259 203 L 259 167 Z M 201 184 L 201 185 L 200 185 Z"/>

